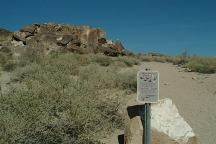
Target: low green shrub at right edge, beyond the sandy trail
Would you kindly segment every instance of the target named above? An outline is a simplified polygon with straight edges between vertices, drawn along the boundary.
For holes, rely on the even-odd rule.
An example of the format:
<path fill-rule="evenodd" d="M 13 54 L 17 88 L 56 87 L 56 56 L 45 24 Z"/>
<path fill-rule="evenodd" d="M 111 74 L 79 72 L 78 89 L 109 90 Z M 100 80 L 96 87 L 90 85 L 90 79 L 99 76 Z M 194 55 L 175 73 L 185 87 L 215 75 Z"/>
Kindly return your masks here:
<path fill-rule="evenodd" d="M 193 57 L 184 66 L 194 72 L 215 73 L 216 58 Z"/>

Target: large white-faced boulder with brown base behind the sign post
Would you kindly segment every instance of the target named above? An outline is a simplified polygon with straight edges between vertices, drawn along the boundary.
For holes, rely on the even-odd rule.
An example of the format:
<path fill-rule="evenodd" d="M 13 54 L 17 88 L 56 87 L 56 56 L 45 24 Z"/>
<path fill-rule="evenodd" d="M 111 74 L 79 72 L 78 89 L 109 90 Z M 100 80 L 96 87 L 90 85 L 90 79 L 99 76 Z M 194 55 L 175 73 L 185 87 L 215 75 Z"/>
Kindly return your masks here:
<path fill-rule="evenodd" d="M 142 144 L 143 126 L 139 116 L 140 105 L 127 108 L 125 118 L 126 144 Z M 151 107 L 152 144 L 197 144 L 189 124 L 180 116 L 170 99 L 160 100 Z"/>

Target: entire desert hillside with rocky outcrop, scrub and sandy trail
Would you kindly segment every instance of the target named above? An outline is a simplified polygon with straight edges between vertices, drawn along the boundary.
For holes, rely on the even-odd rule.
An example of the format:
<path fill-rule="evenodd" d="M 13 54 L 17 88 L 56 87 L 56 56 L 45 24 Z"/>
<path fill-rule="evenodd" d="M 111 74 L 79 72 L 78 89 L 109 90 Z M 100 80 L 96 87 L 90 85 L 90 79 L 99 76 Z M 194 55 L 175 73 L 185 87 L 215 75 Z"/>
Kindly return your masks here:
<path fill-rule="evenodd" d="M 160 72 L 160 99 L 214 143 L 216 58 L 133 54 L 101 29 L 63 24 L 0 29 L 0 143 L 117 143 L 146 67 Z"/>

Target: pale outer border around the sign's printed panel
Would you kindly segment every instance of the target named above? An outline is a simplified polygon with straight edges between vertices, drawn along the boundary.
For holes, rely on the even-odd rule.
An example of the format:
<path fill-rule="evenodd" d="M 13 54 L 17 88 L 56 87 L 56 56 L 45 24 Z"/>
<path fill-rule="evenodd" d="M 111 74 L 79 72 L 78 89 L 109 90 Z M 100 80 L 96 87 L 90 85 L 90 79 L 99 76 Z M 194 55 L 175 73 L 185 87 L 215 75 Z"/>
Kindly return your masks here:
<path fill-rule="evenodd" d="M 140 99 L 139 99 L 139 97 L 140 97 L 140 91 L 141 90 L 139 90 L 139 88 L 140 88 L 140 78 L 139 78 L 139 74 L 140 73 L 157 73 L 157 94 L 156 95 L 154 95 L 155 97 L 157 97 L 157 99 L 156 99 L 156 101 L 141 101 Z M 158 71 L 149 71 L 149 70 L 139 70 L 138 72 L 137 72 L 137 98 L 136 98 L 136 100 L 137 100 L 137 102 L 138 103 L 140 103 L 140 104 L 146 104 L 146 103 L 157 103 L 158 101 L 159 101 L 159 78 L 160 78 L 160 75 L 159 75 L 159 72 Z M 147 96 L 147 95 L 146 95 Z"/>

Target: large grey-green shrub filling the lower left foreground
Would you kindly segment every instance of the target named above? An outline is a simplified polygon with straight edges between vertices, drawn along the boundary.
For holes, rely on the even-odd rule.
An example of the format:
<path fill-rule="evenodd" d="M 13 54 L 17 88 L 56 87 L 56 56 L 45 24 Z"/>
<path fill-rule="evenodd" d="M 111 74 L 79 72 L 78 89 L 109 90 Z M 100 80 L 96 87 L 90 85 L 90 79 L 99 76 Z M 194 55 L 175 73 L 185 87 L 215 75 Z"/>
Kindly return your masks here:
<path fill-rule="evenodd" d="M 88 85 L 78 82 L 71 87 L 31 81 L 1 97 L 2 142 L 93 143 L 96 132 L 113 127 L 106 111 L 99 109 L 104 104 L 97 102 Z"/>

